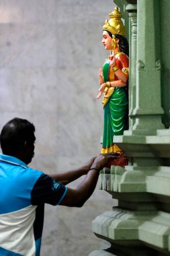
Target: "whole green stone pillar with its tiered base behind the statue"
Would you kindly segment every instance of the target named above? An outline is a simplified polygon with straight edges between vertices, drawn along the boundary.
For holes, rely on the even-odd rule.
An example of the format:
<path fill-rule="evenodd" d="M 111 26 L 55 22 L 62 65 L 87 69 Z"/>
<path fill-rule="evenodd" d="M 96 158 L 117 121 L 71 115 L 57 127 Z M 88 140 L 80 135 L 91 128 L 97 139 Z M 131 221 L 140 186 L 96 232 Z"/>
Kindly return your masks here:
<path fill-rule="evenodd" d="M 110 247 L 89 256 L 170 255 L 170 129 L 162 123 L 169 106 L 169 79 L 162 76 L 169 77 L 169 37 L 163 39 L 170 1 L 127 0 L 124 7 L 130 19 L 130 128 L 114 141 L 129 165 L 101 171 L 100 189 L 118 199 L 118 207 L 93 220 L 93 232 Z"/>

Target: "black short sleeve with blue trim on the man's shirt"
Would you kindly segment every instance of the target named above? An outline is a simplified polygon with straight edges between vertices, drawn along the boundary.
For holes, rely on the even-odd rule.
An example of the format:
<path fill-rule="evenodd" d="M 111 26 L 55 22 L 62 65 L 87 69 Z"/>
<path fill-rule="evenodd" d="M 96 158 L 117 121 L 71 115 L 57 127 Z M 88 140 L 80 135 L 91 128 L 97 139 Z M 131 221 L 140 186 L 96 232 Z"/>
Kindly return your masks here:
<path fill-rule="evenodd" d="M 42 174 L 32 189 L 31 202 L 32 205 L 41 203 L 58 205 L 66 193 L 67 187 L 53 180 L 49 175 Z"/>

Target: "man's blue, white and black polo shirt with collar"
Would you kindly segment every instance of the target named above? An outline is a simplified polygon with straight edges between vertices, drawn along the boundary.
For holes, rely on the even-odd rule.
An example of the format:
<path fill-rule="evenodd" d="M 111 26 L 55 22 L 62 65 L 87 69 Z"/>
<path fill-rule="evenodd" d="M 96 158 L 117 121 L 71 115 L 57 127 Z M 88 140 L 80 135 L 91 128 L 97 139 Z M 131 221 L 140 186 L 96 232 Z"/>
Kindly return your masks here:
<path fill-rule="evenodd" d="M 0 255 L 39 256 L 44 203 L 58 205 L 66 193 L 47 174 L 0 154 Z"/>

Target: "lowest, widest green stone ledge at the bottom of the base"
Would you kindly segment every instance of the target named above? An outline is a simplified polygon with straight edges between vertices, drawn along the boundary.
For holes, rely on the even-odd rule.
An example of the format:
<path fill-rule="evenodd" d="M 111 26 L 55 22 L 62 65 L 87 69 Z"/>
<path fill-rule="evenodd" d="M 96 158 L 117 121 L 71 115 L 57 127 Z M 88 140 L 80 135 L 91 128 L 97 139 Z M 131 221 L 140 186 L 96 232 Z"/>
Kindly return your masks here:
<path fill-rule="evenodd" d="M 165 212 L 132 212 L 114 207 L 93 220 L 92 231 L 113 244 L 140 241 L 163 253 L 170 251 L 170 214 Z"/>

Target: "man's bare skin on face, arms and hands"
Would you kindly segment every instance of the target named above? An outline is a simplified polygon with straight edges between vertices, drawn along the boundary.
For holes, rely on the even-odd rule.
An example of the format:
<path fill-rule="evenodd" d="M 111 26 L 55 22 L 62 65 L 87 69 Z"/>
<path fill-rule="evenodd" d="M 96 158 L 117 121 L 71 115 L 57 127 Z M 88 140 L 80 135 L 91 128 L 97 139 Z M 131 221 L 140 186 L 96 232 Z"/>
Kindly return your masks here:
<path fill-rule="evenodd" d="M 17 154 L 15 153 L 15 155 L 13 154 L 13 156 L 19 158 L 26 164 L 29 164 L 34 156 L 34 142 L 35 141 L 26 141 L 24 150 L 22 150 L 22 152 L 17 152 Z M 86 175 L 85 179 L 76 189 L 70 189 L 68 187 L 67 194 L 64 199 L 62 199 L 60 205 L 82 207 L 96 187 L 99 171 L 107 166 L 108 162 L 117 159 L 118 157 L 119 156 L 116 153 L 99 154 L 95 158 L 91 158 L 87 164 L 80 168 L 62 172 L 60 174 L 50 174 L 52 179 L 55 179 L 63 185 L 67 185 L 72 181 L 79 179 L 81 176 Z"/>

